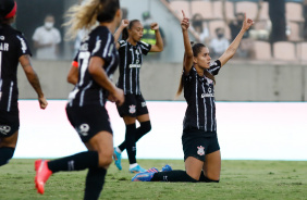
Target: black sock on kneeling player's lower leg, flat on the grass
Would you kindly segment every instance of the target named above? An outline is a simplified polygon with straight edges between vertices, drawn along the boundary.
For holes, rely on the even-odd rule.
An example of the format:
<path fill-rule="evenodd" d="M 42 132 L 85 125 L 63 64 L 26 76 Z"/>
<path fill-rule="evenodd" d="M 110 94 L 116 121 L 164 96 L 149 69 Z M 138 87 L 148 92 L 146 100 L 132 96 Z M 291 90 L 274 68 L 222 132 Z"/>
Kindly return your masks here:
<path fill-rule="evenodd" d="M 151 182 L 197 182 L 186 174 L 185 171 L 171 171 L 155 173 Z"/>

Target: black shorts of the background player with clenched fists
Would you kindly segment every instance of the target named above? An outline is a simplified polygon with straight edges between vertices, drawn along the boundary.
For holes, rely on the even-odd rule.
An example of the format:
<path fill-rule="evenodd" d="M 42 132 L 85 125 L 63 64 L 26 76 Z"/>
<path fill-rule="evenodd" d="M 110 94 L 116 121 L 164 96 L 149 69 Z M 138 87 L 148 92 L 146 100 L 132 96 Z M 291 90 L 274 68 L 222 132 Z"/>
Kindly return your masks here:
<path fill-rule="evenodd" d="M 143 114 L 148 114 L 146 101 L 142 95 L 125 95 L 125 102 L 121 107 L 118 107 L 118 111 L 121 117 L 132 116 L 136 117 Z"/>

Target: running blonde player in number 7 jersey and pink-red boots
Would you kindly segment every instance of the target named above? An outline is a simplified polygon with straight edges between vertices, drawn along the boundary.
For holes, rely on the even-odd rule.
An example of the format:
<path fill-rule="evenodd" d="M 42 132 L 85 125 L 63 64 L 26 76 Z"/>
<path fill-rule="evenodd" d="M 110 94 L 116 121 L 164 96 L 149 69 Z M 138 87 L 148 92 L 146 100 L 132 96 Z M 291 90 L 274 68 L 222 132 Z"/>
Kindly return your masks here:
<path fill-rule="evenodd" d="M 81 43 L 69 79 L 77 79 L 66 105 L 67 117 L 88 151 L 53 161 L 37 160 L 36 188 L 45 191 L 49 176 L 60 171 L 88 168 L 84 199 L 98 199 L 105 184 L 107 168 L 112 162 L 113 135 L 105 108 L 107 98 L 118 104 L 124 102 L 124 92 L 109 79 L 119 63 L 112 33 L 120 25 L 119 0 L 88 0 L 69 11 L 69 33 L 97 26 Z M 77 68 L 76 68 L 77 67 Z M 78 72 L 76 73 L 76 71 Z"/>

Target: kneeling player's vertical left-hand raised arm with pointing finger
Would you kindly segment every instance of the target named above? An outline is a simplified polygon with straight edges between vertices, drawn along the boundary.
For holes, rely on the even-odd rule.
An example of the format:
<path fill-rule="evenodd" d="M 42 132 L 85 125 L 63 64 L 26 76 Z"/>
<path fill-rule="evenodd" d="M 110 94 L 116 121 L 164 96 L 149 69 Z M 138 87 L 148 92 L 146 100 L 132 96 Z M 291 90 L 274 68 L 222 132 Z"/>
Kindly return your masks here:
<path fill-rule="evenodd" d="M 181 21 L 181 28 L 183 35 L 183 43 L 184 43 L 184 72 L 187 75 L 193 65 L 193 50 L 191 46 L 191 41 L 188 38 L 188 27 L 189 27 L 189 20 L 185 16 L 184 11 L 182 11 L 183 20 Z"/>

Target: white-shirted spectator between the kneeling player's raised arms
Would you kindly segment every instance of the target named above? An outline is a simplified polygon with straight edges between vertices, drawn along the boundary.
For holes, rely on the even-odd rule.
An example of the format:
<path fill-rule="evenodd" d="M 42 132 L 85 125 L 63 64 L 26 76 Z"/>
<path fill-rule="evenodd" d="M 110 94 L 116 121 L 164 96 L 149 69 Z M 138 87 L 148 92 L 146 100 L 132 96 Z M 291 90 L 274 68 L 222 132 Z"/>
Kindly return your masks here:
<path fill-rule="evenodd" d="M 224 28 L 217 28 L 216 29 L 217 37 L 213 38 L 210 42 L 210 55 L 212 58 L 220 58 L 225 50 L 230 46 L 230 41 L 225 38 L 225 30 Z"/>

